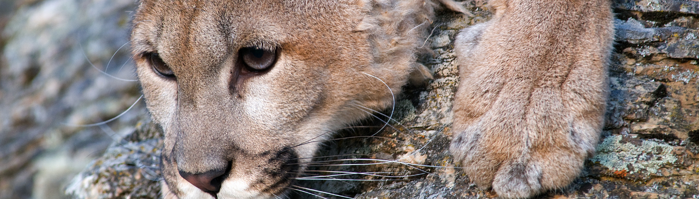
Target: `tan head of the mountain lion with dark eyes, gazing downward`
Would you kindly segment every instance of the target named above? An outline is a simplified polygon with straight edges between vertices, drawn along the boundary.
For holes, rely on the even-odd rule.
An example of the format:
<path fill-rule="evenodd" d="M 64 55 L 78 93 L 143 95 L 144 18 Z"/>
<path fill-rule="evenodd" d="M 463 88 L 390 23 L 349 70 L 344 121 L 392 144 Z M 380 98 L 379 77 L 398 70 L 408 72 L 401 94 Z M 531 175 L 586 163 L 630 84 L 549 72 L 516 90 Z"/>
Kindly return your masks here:
<path fill-rule="evenodd" d="M 283 194 L 317 149 L 305 142 L 392 103 L 412 61 L 398 36 L 375 47 L 407 27 L 377 33 L 361 2 L 140 3 L 131 44 L 179 198 Z"/>

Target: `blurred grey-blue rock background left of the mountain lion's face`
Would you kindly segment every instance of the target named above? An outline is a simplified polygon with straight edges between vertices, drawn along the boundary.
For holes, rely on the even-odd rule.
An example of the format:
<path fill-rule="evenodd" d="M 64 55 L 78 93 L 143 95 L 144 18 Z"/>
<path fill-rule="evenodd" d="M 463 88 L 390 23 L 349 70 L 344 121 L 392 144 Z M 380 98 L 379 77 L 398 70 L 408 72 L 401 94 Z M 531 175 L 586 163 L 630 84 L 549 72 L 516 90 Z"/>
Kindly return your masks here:
<path fill-rule="evenodd" d="M 136 3 L 0 1 L 0 198 L 69 198 L 73 175 L 146 116 L 139 102 L 108 125 L 75 126 L 113 118 L 140 96 L 136 81 L 99 71 L 135 79 L 129 46 L 119 48 Z"/>

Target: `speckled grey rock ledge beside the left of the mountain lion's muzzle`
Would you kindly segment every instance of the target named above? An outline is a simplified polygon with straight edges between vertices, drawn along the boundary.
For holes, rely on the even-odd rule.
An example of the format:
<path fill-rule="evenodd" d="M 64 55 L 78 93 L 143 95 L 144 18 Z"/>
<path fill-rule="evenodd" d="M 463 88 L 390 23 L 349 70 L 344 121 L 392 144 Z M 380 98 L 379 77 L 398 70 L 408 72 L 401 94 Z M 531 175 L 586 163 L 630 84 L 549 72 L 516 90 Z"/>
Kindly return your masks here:
<path fill-rule="evenodd" d="M 75 198 L 159 198 L 163 134 L 152 123 L 115 142 L 66 189 Z"/>

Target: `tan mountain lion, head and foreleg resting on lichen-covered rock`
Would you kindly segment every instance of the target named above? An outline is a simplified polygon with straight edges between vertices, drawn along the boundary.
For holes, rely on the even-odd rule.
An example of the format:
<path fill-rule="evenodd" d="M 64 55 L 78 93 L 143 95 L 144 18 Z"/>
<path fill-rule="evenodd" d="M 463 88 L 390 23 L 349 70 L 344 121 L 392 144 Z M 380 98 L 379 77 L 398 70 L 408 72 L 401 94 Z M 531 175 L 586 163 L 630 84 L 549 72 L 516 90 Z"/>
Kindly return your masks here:
<path fill-rule="evenodd" d="M 284 196 L 319 142 L 394 103 L 450 0 L 141 0 L 131 45 L 165 198 Z M 456 38 L 451 152 L 503 198 L 568 185 L 598 141 L 608 0 L 491 0 Z M 388 88 L 387 88 L 388 87 Z"/>

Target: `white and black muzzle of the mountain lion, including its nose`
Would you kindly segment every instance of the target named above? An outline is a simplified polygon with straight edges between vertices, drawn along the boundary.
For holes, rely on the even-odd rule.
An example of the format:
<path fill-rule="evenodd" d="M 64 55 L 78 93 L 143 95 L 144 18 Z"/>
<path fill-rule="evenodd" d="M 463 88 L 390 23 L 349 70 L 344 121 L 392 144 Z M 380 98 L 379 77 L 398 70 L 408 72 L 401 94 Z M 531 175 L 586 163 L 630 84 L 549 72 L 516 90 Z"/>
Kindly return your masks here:
<path fill-rule="evenodd" d="M 164 156 L 165 157 L 165 156 Z M 303 171 L 298 155 L 294 150 L 284 148 L 275 152 L 259 154 L 238 154 L 227 161 L 225 168 L 210 169 L 192 173 L 178 170 L 177 160 L 164 159 L 164 169 L 178 170 L 167 172 L 168 185 L 175 180 L 173 193 L 178 198 L 278 198 L 286 196 L 296 182 L 298 173 Z M 174 178 L 173 178 L 174 177 Z"/>

